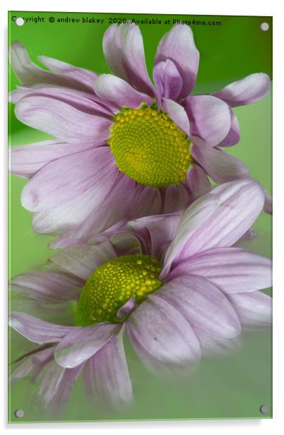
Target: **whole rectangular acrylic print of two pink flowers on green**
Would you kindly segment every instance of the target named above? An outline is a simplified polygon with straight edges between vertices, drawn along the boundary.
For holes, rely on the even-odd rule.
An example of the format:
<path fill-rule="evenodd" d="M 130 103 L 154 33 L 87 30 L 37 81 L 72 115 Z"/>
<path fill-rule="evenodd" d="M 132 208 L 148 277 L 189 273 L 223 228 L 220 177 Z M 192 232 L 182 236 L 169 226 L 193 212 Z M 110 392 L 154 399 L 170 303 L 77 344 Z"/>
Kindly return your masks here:
<path fill-rule="evenodd" d="M 9 422 L 271 418 L 272 18 L 8 23 Z"/>

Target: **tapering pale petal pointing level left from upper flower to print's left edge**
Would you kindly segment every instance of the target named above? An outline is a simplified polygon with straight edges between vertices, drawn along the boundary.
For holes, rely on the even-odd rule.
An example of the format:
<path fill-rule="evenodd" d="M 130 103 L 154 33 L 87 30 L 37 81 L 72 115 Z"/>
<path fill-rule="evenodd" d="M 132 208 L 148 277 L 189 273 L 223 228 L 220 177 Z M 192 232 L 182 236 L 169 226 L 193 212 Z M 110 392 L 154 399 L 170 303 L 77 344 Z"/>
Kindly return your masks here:
<path fill-rule="evenodd" d="M 30 145 L 10 148 L 10 171 L 20 177 L 32 177 L 42 167 L 66 155 L 88 150 L 93 145 L 64 143 L 59 141 L 42 141 Z"/>

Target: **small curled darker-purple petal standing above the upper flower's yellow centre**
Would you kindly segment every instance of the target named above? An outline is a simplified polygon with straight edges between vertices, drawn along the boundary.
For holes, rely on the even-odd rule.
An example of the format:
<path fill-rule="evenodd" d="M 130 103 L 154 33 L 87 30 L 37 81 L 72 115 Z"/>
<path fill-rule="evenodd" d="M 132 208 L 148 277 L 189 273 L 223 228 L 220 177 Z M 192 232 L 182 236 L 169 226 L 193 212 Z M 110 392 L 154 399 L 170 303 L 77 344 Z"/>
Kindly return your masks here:
<path fill-rule="evenodd" d="M 177 66 L 170 59 L 159 62 L 153 71 L 155 85 L 160 97 L 177 100 L 182 90 L 182 77 Z"/>

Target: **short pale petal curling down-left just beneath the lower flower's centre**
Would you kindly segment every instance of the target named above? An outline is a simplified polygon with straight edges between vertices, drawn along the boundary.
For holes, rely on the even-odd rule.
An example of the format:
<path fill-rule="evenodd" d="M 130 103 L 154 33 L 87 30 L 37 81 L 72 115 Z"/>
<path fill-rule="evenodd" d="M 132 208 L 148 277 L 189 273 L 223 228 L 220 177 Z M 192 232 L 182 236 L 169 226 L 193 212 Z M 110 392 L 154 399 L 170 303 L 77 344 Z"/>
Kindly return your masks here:
<path fill-rule="evenodd" d="M 55 347 L 54 358 L 61 367 L 72 369 L 100 350 L 118 333 L 117 323 L 97 323 L 85 328 L 73 328 Z"/>

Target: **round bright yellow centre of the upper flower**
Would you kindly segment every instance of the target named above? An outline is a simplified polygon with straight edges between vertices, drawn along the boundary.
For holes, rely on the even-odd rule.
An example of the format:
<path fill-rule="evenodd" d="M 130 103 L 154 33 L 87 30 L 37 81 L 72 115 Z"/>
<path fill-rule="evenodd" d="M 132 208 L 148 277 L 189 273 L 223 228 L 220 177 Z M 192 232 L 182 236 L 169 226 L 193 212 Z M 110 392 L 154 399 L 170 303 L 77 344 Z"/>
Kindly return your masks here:
<path fill-rule="evenodd" d="M 166 187 L 187 177 L 191 142 L 167 114 L 154 107 L 122 109 L 108 143 L 119 170 L 139 184 Z"/>

